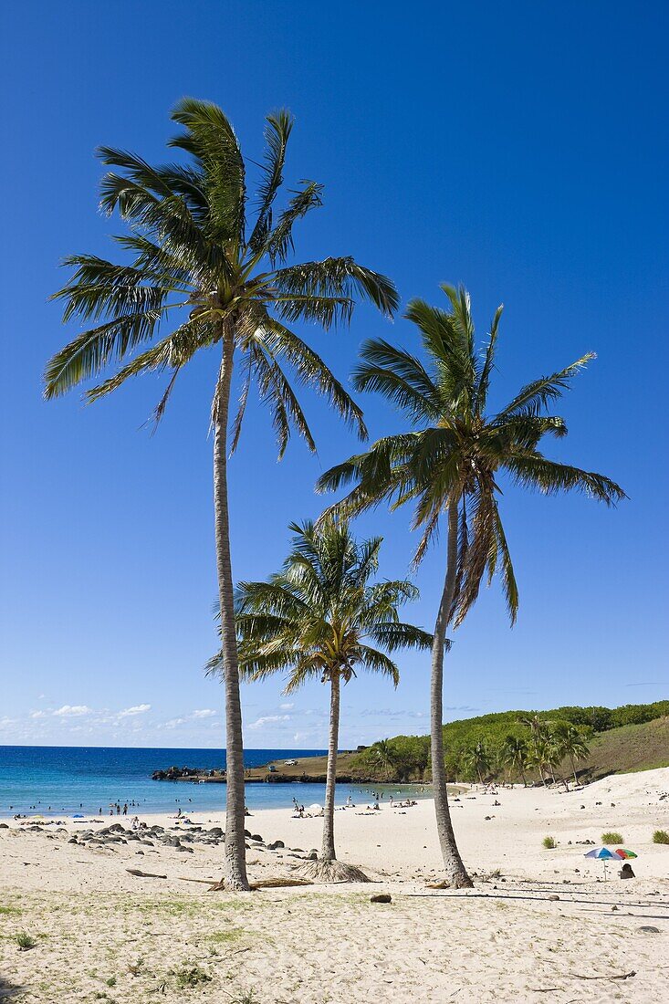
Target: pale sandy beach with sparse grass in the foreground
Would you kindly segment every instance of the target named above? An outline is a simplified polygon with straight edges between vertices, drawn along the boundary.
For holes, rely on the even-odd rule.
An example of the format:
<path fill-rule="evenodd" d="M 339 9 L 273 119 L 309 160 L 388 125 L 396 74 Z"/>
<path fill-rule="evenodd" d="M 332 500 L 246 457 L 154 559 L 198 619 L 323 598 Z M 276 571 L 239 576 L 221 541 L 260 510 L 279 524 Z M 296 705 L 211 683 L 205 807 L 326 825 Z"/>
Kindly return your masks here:
<path fill-rule="evenodd" d="M 203 831 L 192 840 L 173 817 L 141 817 L 166 827 L 163 839 L 179 837 L 181 849 L 157 835 L 153 845 L 68 842 L 130 819 L 68 819 L 66 831 L 8 820 L 0 829 L 0 999 L 657 1004 L 669 1000 L 669 846 L 651 837 L 669 828 L 667 792 L 669 768 L 569 793 L 466 788 L 452 811 L 475 889 L 458 893 L 429 888 L 440 876 L 429 799 L 337 812 L 340 857 L 373 885 L 250 894 L 208 891 L 221 876 L 223 846 L 200 834 L 223 826 L 220 816 L 193 814 Z M 263 843 L 249 840 L 251 878 L 298 873 L 319 846 L 320 825 L 287 809 L 255 812 L 249 832 Z M 605 883 L 602 862 L 584 857 L 583 841 L 599 845 L 606 830 L 638 853 L 636 878 L 623 882 L 614 867 Z M 543 849 L 545 835 L 555 849 Z M 269 849 L 276 840 L 285 846 Z M 371 903 L 379 893 L 392 903 Z M 19 951 L 19 931 L 34 948 Z"/>

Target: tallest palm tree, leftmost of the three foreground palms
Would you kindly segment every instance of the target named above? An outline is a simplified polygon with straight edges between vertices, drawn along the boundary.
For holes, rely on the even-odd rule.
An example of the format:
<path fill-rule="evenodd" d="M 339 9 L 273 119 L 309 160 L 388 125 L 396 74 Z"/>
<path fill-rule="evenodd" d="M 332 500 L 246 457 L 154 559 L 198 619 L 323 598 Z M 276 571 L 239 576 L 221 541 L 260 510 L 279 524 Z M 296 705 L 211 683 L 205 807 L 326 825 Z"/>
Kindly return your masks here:
<path fill-rule="evenodd" d="M 317 321 L 329 328 L 349 321 L 355 297 L 371 300 L 385 314 L 397 305 L 393 284 L 353 258 L 325 258 L 287 264 L 293 225 L 321 205 L 320 185 L 302 183 L 285 208 L 274 214 L 282 184 L 292 119 L 286 111 L 266 119 L 266 151 L 252 224 L 246 222 L 245 165 L 223 111 L 206 101 L 184 98 L 172 113 L 183 131 L 170 146 L 187 155 L 184 163 L 152 167 L 141 157 L 101 148 L 103 164 L 119 169 L 104 175 L 100 206 L 119 210 L 128 233 L 116 240 L 132 255 L 115 264 L 95 255 L 65 260 L 73 275 L 55 296 L 64 301 L 64 319 L 93 326 L 57 352 L 46 368 L 46 398 L 98 378 L 88 390 L 96 401 L 128 379 L 167 371 L 169 380 L 155 411 L 162 417 L 181 369 L 199 353 L 216 348 L 211 422 L 214 450 L 216 561 L 225 663 L 227 884 L 248 889 L 244 854 L 244 766 L 233 579 L 228 521 L 227 458 L 239 441 L 250 385 L 270 408 L 279 456 L 291 429 L 315 449 L 301 406 L 284 367 L 324 394 L 330 406 L 356 428 L 365 426 L 360 409 L 325 363 L 287 325 Z M 169 333 L 159 337 L 159 327 Z M 144 343 L 151 347 L 139 350 Z M 233 365 L 240 370 L 239 408 L 229 423 Z"/>

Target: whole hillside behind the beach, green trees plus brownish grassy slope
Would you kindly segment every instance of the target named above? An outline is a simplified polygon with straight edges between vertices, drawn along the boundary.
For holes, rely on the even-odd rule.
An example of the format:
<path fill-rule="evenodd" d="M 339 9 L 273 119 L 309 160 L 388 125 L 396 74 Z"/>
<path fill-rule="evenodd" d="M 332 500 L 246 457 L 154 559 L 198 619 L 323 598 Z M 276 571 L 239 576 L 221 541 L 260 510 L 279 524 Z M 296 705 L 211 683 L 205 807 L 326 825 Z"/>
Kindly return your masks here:
<path fill-rule="evenodd" d="M 669 701 L 620 708 L 563 707 L 506 711 L 444 726 L 449 780 L 508 779 L 528 782 L 580 779 L 669 766 Z M 524 753 L 515 762 L 509 747 Z M 395 736 L 375 743 L 347 763 L 353 777 L 377 781 L 430 778 L 428 736 Z M 574 765 L 572 761 L 575 761 Z"/>

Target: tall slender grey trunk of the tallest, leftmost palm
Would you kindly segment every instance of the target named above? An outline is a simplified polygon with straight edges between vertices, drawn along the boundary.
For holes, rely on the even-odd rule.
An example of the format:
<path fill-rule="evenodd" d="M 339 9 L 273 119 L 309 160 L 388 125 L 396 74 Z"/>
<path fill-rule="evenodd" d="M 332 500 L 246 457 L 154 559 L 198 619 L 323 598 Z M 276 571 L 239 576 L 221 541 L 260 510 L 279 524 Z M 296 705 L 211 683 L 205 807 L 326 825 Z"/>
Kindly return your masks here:
<path fill-rule="evenodd" d="M 218 595 L 221 605 L 221 651 L 225 681 L 226 819 L 225 884 L 248 890 L 244 842 L 244 751 L 242 740 L 239 664 L 230 561 L 228 515 L 227 432 L 234 342 L 224 331 L 223 359 L 214 402 L 214 518 Z"/>

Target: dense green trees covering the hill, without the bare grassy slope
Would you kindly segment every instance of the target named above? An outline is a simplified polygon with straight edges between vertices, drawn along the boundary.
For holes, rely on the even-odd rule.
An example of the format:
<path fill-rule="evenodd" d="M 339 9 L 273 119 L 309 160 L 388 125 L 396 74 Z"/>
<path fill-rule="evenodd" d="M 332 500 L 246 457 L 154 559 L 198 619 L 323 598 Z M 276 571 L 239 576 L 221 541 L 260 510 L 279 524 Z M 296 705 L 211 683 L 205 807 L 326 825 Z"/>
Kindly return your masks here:
<path fill-rule="evenodd" d="M 591 738 L 623 725 L 669 716 L 669 701 L 620 708 L 563 707 L 506 711 L 450 722 L 443 727 L 444 765 L 450 781 L 554 782 L 578 777 Z M 429 736 L 395 736 L 363 750 L 350 765 L 354 776 L 378 781 L 431 779 Z"/>

